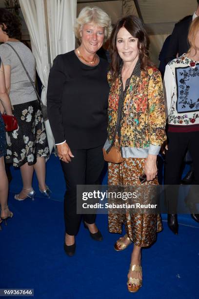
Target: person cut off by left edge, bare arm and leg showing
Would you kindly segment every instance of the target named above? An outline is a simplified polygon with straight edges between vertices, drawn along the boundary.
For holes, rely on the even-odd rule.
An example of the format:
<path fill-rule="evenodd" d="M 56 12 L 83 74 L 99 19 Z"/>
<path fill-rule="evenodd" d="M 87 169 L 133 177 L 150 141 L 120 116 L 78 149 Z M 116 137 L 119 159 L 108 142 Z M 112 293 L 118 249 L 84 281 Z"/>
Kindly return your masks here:
<path fill-rule="evenodd" d="M 4 68 L 0 59 L 0 230 L 2 220 L 6 221 L 13 216 L 8 208 L 8 179 L 4 165 L 6 138 L 5 125 L 1 116 L 4 111 L 7 115 L 12 115 L 12 107 L 5 86 Z"/>

